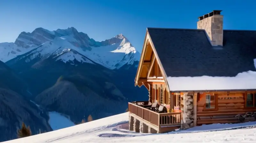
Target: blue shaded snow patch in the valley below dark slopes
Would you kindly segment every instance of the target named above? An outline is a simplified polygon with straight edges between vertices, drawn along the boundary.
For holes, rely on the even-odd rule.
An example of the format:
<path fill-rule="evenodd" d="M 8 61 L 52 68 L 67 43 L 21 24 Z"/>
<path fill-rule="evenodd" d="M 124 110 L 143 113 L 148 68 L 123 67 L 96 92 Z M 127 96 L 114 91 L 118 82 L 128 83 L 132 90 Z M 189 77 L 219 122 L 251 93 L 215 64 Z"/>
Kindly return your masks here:
<path fill-rule="evenodd" d="M 59 130 L 62 128 L 67 128 L 75 125 L 72 121 L 70 121 L 69 118 L 57 112 L 49 112 L 49 117 L 50 119 L 48 123 L 52 127 L 52 130 Z"/>

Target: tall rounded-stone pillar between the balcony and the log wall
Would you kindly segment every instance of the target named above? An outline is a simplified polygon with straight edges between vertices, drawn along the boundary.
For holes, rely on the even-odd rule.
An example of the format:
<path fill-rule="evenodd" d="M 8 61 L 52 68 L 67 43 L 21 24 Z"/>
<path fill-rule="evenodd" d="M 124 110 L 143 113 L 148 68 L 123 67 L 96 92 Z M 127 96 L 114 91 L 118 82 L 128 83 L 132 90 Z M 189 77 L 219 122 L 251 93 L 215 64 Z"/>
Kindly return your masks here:
<path fill-rule="evenodd" d="M 182 99 L 182 98 L 181 98 Z M 182 105 L 181 105 L 182 106 Z M 183 94 L 183 118 L 182 129 L 188 129 L 194 126 L 193 93 Z"/>

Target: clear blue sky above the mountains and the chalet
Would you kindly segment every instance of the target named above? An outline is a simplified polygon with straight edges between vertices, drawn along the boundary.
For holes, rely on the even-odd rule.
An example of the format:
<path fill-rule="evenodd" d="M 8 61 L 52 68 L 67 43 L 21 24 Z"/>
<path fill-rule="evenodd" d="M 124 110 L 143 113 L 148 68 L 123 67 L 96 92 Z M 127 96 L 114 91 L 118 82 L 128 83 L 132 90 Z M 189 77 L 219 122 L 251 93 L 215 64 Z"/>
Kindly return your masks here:
<path fill-rule="evenodd" d="M 124 34 L 141 51 L 147 27 L 196 28 L 223 10 L 224 29 L 256 30 L 255 0 L 0 0 L 0 42 L 20 32 L 75 27 L 96 41 Z"/>

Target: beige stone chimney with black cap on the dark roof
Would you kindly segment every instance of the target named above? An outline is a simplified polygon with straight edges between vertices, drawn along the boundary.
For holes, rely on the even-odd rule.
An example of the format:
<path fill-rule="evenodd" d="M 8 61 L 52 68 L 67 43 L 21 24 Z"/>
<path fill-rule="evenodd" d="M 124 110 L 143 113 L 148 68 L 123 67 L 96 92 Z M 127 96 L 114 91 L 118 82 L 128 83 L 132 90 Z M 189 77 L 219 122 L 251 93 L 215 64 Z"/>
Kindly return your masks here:
<path fill-rule="evenodd" d="M 204 29 L 208 34 L 212 46 L 223 46 L 223 15 L 221 10 L 213 10 L 200 16 L 197 21 L 197 29 Z"/>

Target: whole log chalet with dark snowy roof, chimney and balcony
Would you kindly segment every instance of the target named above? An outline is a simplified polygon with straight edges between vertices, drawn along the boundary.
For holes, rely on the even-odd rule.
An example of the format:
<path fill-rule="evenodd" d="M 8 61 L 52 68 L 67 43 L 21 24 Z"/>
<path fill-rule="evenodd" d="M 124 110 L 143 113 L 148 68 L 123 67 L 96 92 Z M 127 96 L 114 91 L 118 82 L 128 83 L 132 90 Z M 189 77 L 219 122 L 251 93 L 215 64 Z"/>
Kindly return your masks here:
<path fill-rule="evenodd" d="M 128 103 L 130 130 L 255 120 L 256 31 L 223 30 L 220 12 L 199 17 L 197 29 L 147 28 L 135 86 L 149 99 Z"/>

